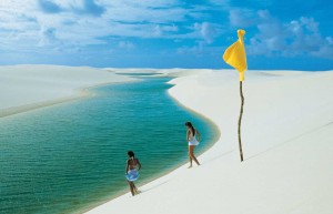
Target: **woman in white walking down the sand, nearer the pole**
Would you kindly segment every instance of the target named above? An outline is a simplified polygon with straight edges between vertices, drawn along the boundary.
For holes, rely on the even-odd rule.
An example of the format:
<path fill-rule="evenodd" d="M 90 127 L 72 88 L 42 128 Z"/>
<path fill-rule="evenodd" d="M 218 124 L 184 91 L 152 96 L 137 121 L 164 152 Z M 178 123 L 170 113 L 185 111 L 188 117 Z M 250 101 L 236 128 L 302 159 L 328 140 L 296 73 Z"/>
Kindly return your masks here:
<path fill-rule="evenodd" d="M 200 165 L 199 161 L 194 155 L 194 149 L 199 145 L 201 140 L 201 135 L 196 129 L 193 128 L 191 122 L 185 123 L 188 132 L 186 132 L 186 141 L 189 142 L 189 159 L 190 159 L 190 166 L 192 167 L 192 161 L 194 161 L 198 165 Z M 196 140 L 198 136 L 198 140 Z"/>

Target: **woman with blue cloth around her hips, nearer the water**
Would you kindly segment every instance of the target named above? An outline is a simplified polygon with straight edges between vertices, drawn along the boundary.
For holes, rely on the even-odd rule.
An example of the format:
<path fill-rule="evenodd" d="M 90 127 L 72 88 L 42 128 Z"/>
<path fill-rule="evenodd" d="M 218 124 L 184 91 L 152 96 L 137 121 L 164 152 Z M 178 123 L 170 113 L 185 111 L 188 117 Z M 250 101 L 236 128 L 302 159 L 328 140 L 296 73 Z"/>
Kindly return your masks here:
<path fill-rule="evenodd" d="M 134 196 L 135 194 L 139 194 L 138 188 L 134 185 L 134 181 L 137 181 L 139 177 L 139 170 L 141 169 L 141 163 L 139 159 L 135 159 L 134 152 L 129 151 L 128 156 L 129 159 L 127 161 L 125 174 L 130 185 L 131 193 Z"/>

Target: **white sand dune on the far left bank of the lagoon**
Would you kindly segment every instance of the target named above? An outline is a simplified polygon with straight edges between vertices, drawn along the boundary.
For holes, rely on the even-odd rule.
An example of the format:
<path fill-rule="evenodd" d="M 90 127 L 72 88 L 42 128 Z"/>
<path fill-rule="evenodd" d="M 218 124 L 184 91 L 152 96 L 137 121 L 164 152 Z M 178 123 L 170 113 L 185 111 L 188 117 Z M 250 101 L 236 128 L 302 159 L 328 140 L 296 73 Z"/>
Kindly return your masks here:
<path fill-rule="evenodd" d="M 87 67 L 0 67 L 0 116 L 82 98 L 89 86 L 132 80 Z"/>

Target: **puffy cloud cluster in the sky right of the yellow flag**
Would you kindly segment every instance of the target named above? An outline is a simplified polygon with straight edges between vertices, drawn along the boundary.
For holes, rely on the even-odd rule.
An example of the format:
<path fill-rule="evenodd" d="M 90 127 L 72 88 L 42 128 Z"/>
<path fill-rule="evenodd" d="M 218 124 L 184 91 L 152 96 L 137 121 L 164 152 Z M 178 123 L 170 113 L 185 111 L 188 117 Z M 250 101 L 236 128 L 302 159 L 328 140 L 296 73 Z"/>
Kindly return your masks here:
<path fill-rule="evenodd" d="M 333 59 L 333 44 L 324 39 L 313 18 L 301 17 L 287 23 L 259 11 L 259 33 L 250 39 L 249 54 L 314 55 Z"/>

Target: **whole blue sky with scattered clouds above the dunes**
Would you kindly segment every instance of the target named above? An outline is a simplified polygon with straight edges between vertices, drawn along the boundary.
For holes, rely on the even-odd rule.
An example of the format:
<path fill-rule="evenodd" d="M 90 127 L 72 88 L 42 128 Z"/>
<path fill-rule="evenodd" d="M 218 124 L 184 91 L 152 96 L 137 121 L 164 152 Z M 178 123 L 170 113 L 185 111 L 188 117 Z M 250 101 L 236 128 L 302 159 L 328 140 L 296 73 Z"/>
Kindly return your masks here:
<path fill-rule="evenodd" d="M 333 70 L 329 0 L 1 0 L 0 64 Z"/>

